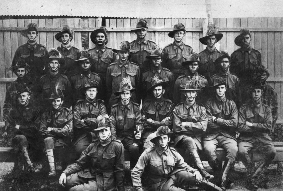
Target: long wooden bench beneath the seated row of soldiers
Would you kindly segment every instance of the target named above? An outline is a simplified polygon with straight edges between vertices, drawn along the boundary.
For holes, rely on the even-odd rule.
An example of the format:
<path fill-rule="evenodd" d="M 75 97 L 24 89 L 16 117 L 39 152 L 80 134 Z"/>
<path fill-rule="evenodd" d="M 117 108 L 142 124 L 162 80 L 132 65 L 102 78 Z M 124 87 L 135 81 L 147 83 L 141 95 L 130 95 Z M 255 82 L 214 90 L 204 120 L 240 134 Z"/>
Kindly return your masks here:
<path fill-rule="evenodd" d="M 273 161 L 283 161 L 283 142 L 274 142 L 274 146 L 276 148 L 276 155 Z M 74 152 L 70 151 L 70 162 L 73 161 Z M 216 149 L 217 159 L 219 161 L 225 161 L 226 153 L 224 149 Z M 253 149 L 250 153 L 252 161 L 260 161 L 262 159 L 262 154 L 257 150 Z M 15 153 L 12 147 L 0 147 L 0 162 L 14 162 Z M 128 151 L 125 152 L 125 161 L 130 161 L 130 153 Z M 201 155 L 202 161 L 207 161 L 207 158 L 204 155 Z"/>

